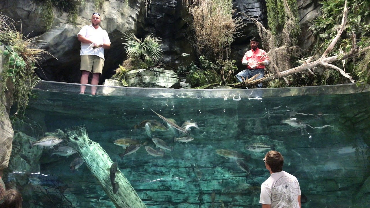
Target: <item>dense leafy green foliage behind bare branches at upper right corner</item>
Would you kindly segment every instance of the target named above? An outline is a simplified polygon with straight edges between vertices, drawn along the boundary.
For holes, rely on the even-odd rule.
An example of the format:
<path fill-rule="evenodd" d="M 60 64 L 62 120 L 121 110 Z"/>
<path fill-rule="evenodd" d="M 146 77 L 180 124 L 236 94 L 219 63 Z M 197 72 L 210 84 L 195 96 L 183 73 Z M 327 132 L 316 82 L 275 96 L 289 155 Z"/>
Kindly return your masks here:
<path fill-rule="evenodd" d="M 322 17 L 314 20 L 313 25 L 310 27 L 313 34 L 317 36 L 316 48 L 320 53 L 323 53 L 323 50 L 326 49 L 337 34 L 337 29 L 342 22 L 344 1 L 345 0 L 326 0 L 320 2 L 322 4 Z M 339 54 L 340 49 L 344 52 L 349 52 L 351 50 L 352 32 L 356 34 L 357 46 L 361 48 L 370 46 L 370 1 L 347 0 L 347 7 L 348 17 L 345 30 L 332 52 L 328 54 L 329 56 Z M 369 83 L 369 60 L 370 53 L 367 52 L 361 58 L 346 60 L 344 68 L 347 73 L 350 73 L 352 77 L 357 78 L 358 81 Z M 343 66 L 339 67 L 342 68 Z M 327 73 L 329 74 L 329 72 Z M 330 72 L 330 75 L 333 76 L 334 73 L 337 72 Z M 324 77 L 329 76 L 328 74 Z M 340 79 L 335 78 L 331 78 L 331 80 L 340 81 Z M 326 81 L 323 81 L 323 83 L 326 83 Z"/>

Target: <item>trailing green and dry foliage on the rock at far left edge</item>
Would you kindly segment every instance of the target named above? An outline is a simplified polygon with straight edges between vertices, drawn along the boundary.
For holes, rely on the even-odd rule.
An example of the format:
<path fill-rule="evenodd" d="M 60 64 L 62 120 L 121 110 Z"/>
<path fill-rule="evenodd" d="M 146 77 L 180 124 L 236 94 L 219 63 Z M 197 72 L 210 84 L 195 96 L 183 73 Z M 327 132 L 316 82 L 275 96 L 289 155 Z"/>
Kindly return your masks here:
<path fill-rule="evenodd" d="M 28 104 L 28 96 L 31 88 L 39 80 L 34 74 L 35 62 L 40 53 L 45 51 L 32 48 L 32 40 L 23 37 L 14 29 L 13 23 L 0 14 L 0 42 L 5 46 L 1 55 L 4 56 L 3 71 L 1 73 L 0 96 L 4 100 L 8 80 L 13 85 L 14 103 L 17 103 L 17 110 L 23 111 Z M 1 106 L 3 107 L 3 106 Z"/>

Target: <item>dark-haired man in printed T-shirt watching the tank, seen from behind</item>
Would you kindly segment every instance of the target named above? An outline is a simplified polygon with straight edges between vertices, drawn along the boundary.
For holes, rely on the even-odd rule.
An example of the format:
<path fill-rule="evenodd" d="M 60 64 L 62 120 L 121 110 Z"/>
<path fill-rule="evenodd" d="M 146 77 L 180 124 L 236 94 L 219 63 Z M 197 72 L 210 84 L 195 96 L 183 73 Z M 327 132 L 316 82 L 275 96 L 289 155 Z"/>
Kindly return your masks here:
<path fill-rule="evenodd" d="M 298 180 L 283 171 L 283 155 L 269 151 L 263 161 L 270 177 L 261 185 L 259 203 L 262 208 L 301 208 Z"/>

